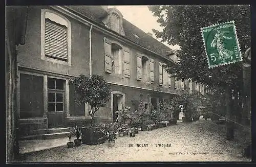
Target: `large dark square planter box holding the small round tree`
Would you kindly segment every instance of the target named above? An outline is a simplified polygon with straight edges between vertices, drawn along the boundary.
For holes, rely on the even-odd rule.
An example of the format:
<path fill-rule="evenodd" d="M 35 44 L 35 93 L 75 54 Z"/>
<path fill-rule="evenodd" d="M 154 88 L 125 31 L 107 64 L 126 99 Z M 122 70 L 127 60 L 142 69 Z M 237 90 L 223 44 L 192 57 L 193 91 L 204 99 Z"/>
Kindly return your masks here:
<path fill-rule="evenodd" d="M 82 144 L 103 144 L 104 140 L 98 140 L 100 137 L 104 137 L 104 134 L 100 131 L 100 127 L 82 127 Z"/>

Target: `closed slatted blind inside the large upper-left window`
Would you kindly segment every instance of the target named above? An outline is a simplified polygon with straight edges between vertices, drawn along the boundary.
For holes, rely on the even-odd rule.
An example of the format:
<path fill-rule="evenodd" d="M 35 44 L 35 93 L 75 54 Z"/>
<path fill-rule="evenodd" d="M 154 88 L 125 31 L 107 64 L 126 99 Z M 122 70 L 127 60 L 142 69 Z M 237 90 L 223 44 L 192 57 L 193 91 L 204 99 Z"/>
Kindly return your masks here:
<path fill-rule="evenodd" d="M 67 27 L 45 19 L 45 55 L 68 60 Z"/>

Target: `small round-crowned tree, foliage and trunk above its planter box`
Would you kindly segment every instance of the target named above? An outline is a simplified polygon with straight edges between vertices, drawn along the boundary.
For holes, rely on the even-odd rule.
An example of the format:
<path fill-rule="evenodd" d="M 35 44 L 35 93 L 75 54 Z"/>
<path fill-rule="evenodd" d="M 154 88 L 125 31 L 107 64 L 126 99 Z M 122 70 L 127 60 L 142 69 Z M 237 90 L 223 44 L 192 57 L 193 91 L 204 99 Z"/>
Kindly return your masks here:
<path fill-rule="evenodd" d="M 94 114 L 100 107 L 104 107 L 110 100 L 111 88 L 102 76 L 92 75 L 88 78 L 80 75 L 71 81 L 75 86 L 77 97 L 75 102 L 79 105 L 88 103 L 91 106 L 89 115 L 92 117 L 92 125 L 95 126 Z"/>

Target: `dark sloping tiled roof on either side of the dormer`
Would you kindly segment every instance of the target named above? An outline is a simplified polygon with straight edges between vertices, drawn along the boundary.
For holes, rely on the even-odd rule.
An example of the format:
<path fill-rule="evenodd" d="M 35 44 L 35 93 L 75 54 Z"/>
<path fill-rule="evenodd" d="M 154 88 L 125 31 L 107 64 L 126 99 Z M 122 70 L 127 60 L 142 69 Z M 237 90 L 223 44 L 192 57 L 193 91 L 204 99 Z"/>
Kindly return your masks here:
<path fill-rule="evenodd" d="M 101 26 L 104 26 L 102 19 L 108 15 L 108 13 L 101 6 L 68 6 L 69 8 L 77 11 L 81 15 L 97 22 Z M 108 28 L 106 28 L 108 29 Z M 123 18 L 123 29 L 125 37 L 131 41 L 145 47 L 148 50 L 156 52 L 162 56 L 167 57 L 167 54 L 172 53 L 172 49 L 157 39 L 146 34 L 144 31 L 133 25 L 131 22 Z"/>

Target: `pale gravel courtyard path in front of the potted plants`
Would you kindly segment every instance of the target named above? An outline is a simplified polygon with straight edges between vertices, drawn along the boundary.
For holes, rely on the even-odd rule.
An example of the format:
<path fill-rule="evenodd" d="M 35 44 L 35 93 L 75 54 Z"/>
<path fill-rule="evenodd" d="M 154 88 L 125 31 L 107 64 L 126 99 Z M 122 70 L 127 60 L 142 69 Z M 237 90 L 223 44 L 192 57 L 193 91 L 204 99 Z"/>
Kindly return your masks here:
<path fill-rule="evenodd" d="M 102 162 L 102 161 L 250 161 L 241 154 L 241 146 L 226 141 L 225 125 L 200 120 L 177 123 L 153 131 L 139 131 L 135 137 L 116 139 L 115 146 L 66 146 L 24 154 L 23 162 Z M 129 147 L 132 144 L 133 147 Z M 147 147 L 137 147 L 142 144 Z M 160 147 L 171 144 L 171 147 Z M 163 144 L 163 145 L 162 145 Z"/>

